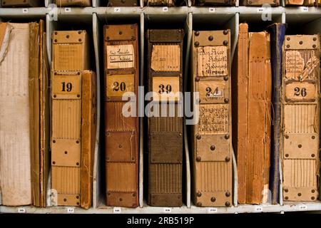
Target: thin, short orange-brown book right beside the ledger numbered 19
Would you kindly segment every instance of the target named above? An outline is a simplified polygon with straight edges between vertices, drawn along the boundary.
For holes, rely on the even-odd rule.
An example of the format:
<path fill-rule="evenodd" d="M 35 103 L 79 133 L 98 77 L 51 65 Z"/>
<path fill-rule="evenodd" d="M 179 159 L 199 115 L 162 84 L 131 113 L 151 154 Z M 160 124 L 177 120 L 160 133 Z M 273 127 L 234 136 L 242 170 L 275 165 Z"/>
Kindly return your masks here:
<path fill-rule="evenodd" d="M 81 207 L 92 204 L 93 152 L 97 128 L 96 74 L 83 71 L 81 101 Z"/>

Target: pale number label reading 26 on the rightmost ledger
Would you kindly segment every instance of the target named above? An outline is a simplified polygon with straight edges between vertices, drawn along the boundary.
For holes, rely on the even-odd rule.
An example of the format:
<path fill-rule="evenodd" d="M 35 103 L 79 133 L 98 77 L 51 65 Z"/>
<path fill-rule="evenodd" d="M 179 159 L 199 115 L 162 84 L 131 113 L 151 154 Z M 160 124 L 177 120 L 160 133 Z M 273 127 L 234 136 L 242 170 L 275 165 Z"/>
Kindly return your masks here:
<path fill-rule="evenodd" d="M 316 92 L 315 84 L 311 82 L 295 82 L 285 86 L 287 101 L 312 101 L 316 99 Z"/>

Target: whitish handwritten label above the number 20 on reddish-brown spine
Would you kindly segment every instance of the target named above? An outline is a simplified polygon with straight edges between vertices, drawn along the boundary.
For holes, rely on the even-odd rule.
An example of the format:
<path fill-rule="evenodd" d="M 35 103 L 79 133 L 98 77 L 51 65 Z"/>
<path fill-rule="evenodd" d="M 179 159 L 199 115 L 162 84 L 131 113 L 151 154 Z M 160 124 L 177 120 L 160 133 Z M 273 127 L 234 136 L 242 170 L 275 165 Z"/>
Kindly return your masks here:
<path fill-rule="evenodd" d="M 133 45 L 108 45 L 107 46 L 107 68 L 133 68 L 134 50 Z"/>

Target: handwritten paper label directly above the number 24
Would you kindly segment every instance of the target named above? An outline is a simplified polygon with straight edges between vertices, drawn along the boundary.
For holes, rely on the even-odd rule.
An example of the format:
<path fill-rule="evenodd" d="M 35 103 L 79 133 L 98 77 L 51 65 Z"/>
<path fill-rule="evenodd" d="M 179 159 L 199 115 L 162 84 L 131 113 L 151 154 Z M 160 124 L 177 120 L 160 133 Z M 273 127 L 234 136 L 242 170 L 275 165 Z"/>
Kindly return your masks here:
<path fill-rule="evenodd" d="M 205 46 L 198 51 L 198 76 L 228 75 L 228 48 L 226 46 Z"/>

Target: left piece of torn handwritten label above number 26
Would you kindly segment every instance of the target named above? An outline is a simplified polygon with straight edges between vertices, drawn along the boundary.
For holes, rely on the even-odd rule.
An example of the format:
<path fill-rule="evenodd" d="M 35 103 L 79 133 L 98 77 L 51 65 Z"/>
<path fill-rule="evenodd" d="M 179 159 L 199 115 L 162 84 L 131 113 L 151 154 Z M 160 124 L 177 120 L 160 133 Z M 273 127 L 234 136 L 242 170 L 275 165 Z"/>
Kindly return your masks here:
<path fill-rule="evenodd" d="M 299 80 L 305 68 L 305 61 L 300 51 L 285 52 L 285 78 Z"/>

